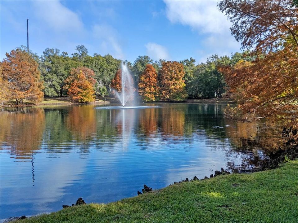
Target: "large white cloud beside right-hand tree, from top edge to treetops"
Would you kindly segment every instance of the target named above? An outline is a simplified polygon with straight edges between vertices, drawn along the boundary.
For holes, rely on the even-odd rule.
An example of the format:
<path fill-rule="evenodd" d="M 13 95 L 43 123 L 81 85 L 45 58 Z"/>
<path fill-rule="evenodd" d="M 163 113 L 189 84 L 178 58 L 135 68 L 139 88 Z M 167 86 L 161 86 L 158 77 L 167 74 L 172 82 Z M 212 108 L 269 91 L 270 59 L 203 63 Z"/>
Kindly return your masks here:
<path fill-rule="evenodd" d="M 212 54 L 230 55 L 239 51 L 240 43 L 231 35 L 231 23 L 217 8 L 216 1 L 164 1 L 166 16 L 172 23 L 188 25 L 200 36 L 197 62 L 205 62 Z"/>

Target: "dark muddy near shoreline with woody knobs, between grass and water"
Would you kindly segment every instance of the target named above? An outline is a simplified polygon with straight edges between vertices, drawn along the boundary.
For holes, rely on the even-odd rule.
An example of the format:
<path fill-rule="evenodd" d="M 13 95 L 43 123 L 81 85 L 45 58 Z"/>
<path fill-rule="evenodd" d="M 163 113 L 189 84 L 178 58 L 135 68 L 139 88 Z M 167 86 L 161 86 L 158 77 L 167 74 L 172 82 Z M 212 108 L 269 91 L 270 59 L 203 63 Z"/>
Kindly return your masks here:
<path fill-rule="evenodd" d="M 68 212 L 68 211 L 74 211 L 74 209 L 80 209 L 80 208 L 85 208 L 87 206 L 92 206 L 92 205 L 98 205 L 98 206 L 104 206 L 104 207 L 108 207 L 108 206 L 111 206 L 113 204 L 119 204 L 119 203 L 123 203 L 123 202 L 126 202 L 126 201 L 129 201 L 129 200 L 136 200 L 136 199 L 142 199 L 142 197 L 146 197 L 146 196 L 151 196 L 152 194 L 156 194 L 156 193 L 159 193 L 160 191 L 163 191 L 163 190 L 171 190 L 169 188 L 172 188 L 172 187 L 177 187 L 179 185 L 185 185 L 185 184 L 188 184 L 188 183 L 203 183 L 203 182 L 208 182 L 208 181 L 212 181 L 213 184 L 211 185 L 210 188 L 213 188 L 214 186 L 217 185 L 217 180 L 223 180 L 225 179 L 226 177 L 229 178 L 229 177 L 232 177 L 233 179 L 237 179 L 237 178 L 241 178 L 241 177 L 244 177 L 245 176 L 251 176 L 251 175 L 254 175 L 254 174 L 261 174 L 264 176 L 266 176 L 267 172 L 269 171 L 275 171 L 277 172 L 280 168 L 284 168 L 284 166 L 286 165 L 289 165 L 288 163 L 292 164 L 296 164 L 296 176 L 297 176 L 297 181 L 296 181 L 296 184 L 298 186 L 298 146 L 295 145 L 287 150 L 281 150 L 279 149 L 278 151 L 276 151 L 274 154 L 270 154 L 269 155 L 270 159 L 269 160 L 264 160 L 264 164 L 263 166 L 261 167 L 261 169 L 258 169 L 258 170 L 255 170 L 253 172 L 246 172 L 245 170 L 241 170 L 241 169 L 232 169 L 232 173 L 228 172 L 227 170 L 224 170 L 223 168 L 221 168 L 221 171 L 215 171 L 214 175 L 211 174 L 210 177 L 208 178 L 207 176 L 205 178 L 202 178 L 202 179 L 198 179 L 196 176 L 189 180 L 188 178 L 186 178 L 185 180 L 183 181 L 179 181 L 179 182 L 174 182 L 174 184 L 172 185 L 169 185 L 169 186 L 166 186 L 164 188 L 161 188 L 161 189 L 156 189 L 156 190 L 152 190 L 152 188 L 144 185 L 144 189 L 142 190 L 143 193 L 141 192 L 137 192 L 136 194 L 138 194 L 137 196 L 135 197 L 131 197 L 131 198 L 125 198 L 125 199 L 121 199 L 120 201 L 116 201 L 116 202 L 112 202 L 112 203 L 107 203 L 107 204 L 99 204 L 99 203 L 89 203 L 89 204 L 85 204 L 84 200 L 84 205 L 73 205 L 73 207 L 71 206 L 68 206 L 68 205 L 63 205 L 65 207 L 63 207 L 63 209 L 59 210 L 59 211 L 56 211 L 56 212 L 52 212 L 52 213 L 41 213 L 41 214 L 37 214 L 37 215 L 33 215 L 33 216 L 28 216 L 24 218 L 24 216 L 21 216 L 22 219 L 20 219 L 20 217 L 10 217 L 10 218 L 7 218 L 7 219 L 1 219 L 0 222 L 1 223 L 6 223 L 6 222 L 19 222 L 20 220 L 25 220 L 25 221 L 22 221 L 22 222 L 47 222 L 47 221 L 44 221 L 43 218 L 48 218 L 50 216 L 53 216 L 53 215 L 57 215 L 58 213 L 63 213 L 63 212 Z M 215 180 L 214 180 L 215 178 Z M 295 183 L 295 182 L 294 182 Z M 238 187 L 240 184 L 238 183 L 234 183 L 232 184 L 233 187 Z M 149 185 L 150 186 L 150 185 Z M 273 185 L 275 186 L 275 185 Z M 297 204 L 298 204 L 298 191 L 296 191 L 296 195 L 297 195 Z M 176 193 L 179 193 L 179 191 L 176 191 Z M 81 198 L 79 198 L 81 199 Z M 170 201 L 169 201 L 170 202 Z M 298 208 L 298 206 L 297 206 Z M 298 217 L 298 209 L 297 209 L 297 217 Z M 56 219 L 56 217 L 55 217 Z M 35 221 L 36 220 L 36 221 Z M 40 220 L 40 221 L 39 221 Z M 67 221 L 66 221 L 67 222 Z M 69 222 L 73 222 L 73 220 L 70 220 Z M 122 221 L 121 221 L 122 222 Z M 129 221 L 127 221 L 129 222 Z M 213 221 L 212 221 L 213 222 Z"/>

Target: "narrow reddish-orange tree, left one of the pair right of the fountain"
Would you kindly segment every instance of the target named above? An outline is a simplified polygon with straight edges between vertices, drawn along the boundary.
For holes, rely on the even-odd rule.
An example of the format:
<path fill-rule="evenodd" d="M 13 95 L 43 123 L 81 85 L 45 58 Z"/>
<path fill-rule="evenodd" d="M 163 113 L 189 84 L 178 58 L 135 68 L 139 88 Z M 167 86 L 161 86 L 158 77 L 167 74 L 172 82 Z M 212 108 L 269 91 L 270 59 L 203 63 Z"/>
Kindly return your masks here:
<path fill-rule="evenodd" d="M 138 87 L 138 92 L 142 96 L 143 101 L 159 101 L 157 72 L 151 64 L 147 64 L 144 72 L 140 75 Z"/>

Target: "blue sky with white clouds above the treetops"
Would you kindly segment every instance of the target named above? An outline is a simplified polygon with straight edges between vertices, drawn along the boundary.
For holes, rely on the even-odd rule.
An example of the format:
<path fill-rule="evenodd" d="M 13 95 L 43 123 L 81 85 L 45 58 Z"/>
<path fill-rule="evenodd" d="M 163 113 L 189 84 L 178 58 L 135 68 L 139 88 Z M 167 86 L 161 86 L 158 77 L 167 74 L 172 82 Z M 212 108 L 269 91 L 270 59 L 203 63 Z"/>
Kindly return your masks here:
<path fill-rule="evenodd" d="M 1 1 L 1 59 L 27 45 L 41 55 L 47 47 L 69 54 L 83 44 L 89 55 L 111 54 L 133 62 L 152 59 L 205 62 L 230 55 L 240 43 L 216 1 Z"/>

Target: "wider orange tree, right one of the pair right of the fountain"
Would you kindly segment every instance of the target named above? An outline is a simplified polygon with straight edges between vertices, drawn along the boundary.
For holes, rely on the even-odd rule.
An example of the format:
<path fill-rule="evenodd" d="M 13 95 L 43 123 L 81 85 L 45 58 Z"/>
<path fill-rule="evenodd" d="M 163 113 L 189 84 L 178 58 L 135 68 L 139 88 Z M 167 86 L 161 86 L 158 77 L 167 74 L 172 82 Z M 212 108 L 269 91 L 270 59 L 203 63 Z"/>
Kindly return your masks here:
<path fill-rule="evenodd" d="M 160 74 L 160 100 L 184 101 L 187 98 L 183 64 L 167 61 L 162 64 Z"/>

